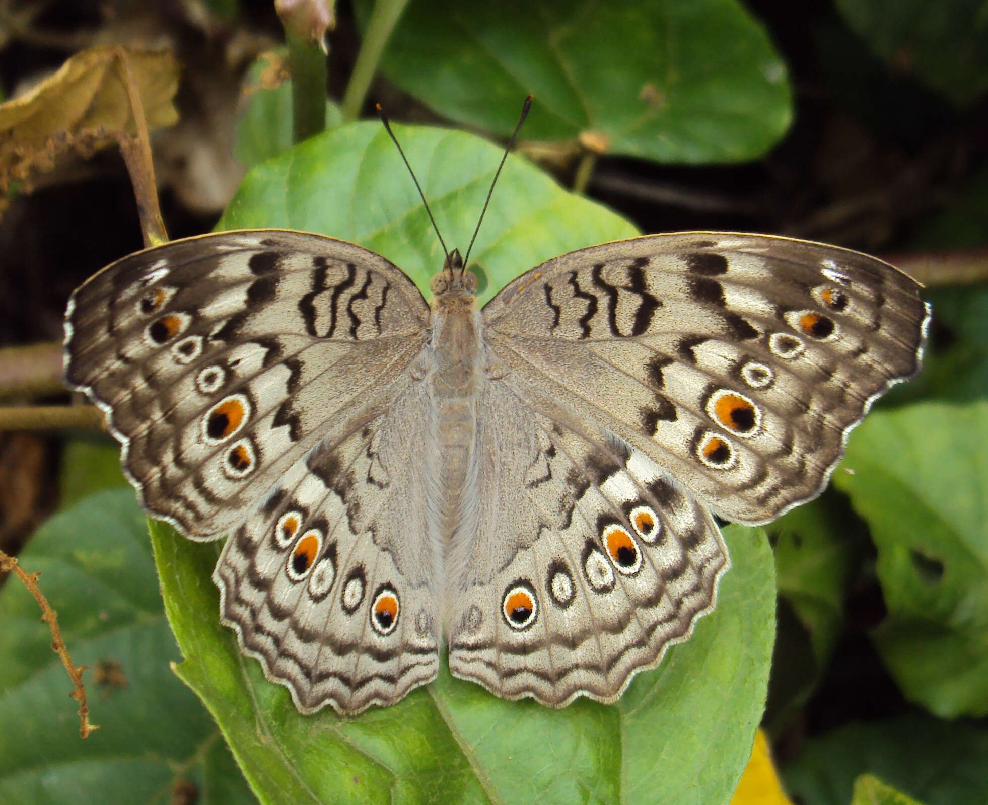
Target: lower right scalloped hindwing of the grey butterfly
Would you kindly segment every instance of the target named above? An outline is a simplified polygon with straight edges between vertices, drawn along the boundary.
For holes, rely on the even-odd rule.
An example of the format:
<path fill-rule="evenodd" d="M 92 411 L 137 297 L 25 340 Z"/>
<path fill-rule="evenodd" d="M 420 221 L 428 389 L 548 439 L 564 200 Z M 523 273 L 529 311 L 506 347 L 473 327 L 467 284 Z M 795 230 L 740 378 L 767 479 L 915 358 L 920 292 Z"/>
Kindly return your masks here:
<path fill-rule="evenodd" d="M 614 701 L 712 609 L 729 564 L 716 523 L 539 389 L 491 382 L 476 450 L 477 511 L 448 563 L 450 670 L 508 698 Z"/>

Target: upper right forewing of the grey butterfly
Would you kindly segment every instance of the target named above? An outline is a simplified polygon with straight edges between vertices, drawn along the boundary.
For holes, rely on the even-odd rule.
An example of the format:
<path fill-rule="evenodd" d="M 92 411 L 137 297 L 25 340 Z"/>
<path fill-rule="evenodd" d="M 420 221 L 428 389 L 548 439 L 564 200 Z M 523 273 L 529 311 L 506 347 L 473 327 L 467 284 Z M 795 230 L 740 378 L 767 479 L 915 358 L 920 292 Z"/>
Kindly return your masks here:
<path fill-rule="evenodd" d="M 484 315 L 511 375 L 764 523 L 819 494 L 871 400 L 918 371 L 928 311 L 874 258 L 698 232 L 562 255 Z"/>

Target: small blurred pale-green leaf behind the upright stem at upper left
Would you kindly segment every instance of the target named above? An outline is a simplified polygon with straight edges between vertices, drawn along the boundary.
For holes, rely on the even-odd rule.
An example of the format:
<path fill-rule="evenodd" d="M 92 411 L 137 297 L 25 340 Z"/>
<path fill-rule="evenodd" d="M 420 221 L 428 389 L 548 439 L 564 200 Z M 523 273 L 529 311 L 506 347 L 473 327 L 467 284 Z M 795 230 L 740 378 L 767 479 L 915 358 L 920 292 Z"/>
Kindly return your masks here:
<path fill-rule="evenodd" d="M 291 78 L 285 47 L 262 53 L 247 71 L 246 106 L 234 130 L 233 155 L 245 168 L 278 156 L 292 145 Z M 342 121 L 340 108 L 326 101 L 326 127 Z"/>

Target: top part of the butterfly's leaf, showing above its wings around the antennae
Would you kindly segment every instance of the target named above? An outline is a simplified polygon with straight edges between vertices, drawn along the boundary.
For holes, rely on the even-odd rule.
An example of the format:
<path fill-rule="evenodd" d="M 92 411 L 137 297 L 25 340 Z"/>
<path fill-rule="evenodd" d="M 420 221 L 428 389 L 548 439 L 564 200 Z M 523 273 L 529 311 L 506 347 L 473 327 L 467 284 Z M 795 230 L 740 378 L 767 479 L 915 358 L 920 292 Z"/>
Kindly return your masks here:
<path fill-rule="evenodd" d="M 441 128 L 394 125 L 447 245 L 465 250 L 501 149 Z M 386 257 L 429 294 L 443 250 L 412 178 L 378 122 L 340 126 L 248 174 L 218 229 L 276 226 L 359 243 Z M 562 252 L 633 237 L 635 228 L 573 196 L 527 160 L 511 156 L 487 209 L 473 257 L 481 301 Z M 486 285 L 486 287 L 485 287 Z"/>

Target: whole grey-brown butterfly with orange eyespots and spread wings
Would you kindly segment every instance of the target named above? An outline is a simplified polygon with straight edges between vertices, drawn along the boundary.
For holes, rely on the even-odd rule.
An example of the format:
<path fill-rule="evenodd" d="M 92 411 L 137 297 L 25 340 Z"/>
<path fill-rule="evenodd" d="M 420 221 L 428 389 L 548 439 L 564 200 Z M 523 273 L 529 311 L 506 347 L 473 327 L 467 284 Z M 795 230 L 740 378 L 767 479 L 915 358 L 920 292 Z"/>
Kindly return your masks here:
<path fill-rule="evenodd" d="M 820 494 L 929 311 L 878 260 L 688 232 L 562 255 L 482 310 L 287 230 L 139 252 L 75 291 L 67 382 L 144 509 L 229 534 L 220 617 L 305 713 L 453 675 L 612 702 L 729 566 L 714 515 Z"/>

